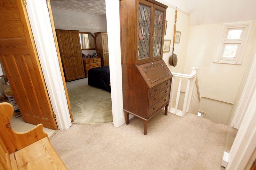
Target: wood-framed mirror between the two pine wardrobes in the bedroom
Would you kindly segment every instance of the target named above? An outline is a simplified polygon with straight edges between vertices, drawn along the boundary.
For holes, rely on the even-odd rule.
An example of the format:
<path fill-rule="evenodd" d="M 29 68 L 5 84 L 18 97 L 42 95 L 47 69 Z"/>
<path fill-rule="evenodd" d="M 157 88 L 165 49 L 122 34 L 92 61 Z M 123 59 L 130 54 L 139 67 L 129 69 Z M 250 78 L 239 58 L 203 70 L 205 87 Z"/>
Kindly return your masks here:
<path fill-rule="evenodd" d="M 79 32 L 81 50 L 96 49 L 95 37 L 89 32 Z"/>

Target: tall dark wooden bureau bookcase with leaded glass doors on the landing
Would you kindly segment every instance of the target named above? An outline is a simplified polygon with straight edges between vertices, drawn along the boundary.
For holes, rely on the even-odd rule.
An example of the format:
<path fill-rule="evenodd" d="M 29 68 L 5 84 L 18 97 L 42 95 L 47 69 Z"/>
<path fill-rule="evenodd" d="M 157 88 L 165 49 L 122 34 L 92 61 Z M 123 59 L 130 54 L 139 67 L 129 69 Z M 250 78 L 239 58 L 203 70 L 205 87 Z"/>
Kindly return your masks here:
<path fill-rule="evenodd" d="M 121 0 L 123 110 L 148 121 L 170 102 L 172 73 L 163 58 L 167 6 L 155 0 Z"/>

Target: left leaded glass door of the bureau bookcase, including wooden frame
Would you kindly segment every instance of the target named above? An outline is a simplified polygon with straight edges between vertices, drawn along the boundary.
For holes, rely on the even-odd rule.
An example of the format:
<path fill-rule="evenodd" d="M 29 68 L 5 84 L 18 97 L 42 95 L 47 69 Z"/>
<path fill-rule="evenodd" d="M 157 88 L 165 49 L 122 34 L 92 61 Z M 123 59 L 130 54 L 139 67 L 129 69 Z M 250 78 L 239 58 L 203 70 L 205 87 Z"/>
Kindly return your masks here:
<path fill-rule="evenodd" d="M 137 63 L 148 62 L 152 59 L 152 26 L 153 4 L 139 0 L 138 6 L 138 56 Z"/>

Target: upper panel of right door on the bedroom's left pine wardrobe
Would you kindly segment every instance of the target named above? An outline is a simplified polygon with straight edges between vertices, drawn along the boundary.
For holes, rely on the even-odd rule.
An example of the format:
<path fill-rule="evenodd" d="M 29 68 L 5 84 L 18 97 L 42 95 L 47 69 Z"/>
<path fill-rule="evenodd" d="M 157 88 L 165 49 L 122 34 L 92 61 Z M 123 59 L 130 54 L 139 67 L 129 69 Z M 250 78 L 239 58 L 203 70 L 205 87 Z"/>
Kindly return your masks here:
<path fill-rule="evenodd" d="M 79 31 L 69 31 L 74 56 L 82 56 Z"/>

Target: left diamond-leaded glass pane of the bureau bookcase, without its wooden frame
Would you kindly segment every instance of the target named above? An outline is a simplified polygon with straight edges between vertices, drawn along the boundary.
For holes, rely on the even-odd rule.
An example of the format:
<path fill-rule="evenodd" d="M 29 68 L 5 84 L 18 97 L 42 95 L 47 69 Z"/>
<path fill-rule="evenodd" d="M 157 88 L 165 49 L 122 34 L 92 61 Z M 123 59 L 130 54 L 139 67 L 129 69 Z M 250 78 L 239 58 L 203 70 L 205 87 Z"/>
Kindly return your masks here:
<path fill-rule="evenodd" d="M 139 4 L 139 59 L 149 58 L 151 8 Z"/>

